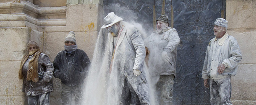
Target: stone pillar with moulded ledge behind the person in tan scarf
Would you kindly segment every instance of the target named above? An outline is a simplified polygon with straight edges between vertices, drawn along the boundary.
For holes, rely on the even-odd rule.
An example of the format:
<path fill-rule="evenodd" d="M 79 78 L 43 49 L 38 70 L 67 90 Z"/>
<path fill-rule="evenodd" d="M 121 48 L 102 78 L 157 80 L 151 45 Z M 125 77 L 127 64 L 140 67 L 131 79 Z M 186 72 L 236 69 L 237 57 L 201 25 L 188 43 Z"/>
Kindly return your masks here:
<path fill-rule="evenodd" d="M 66 21 L 61 18 L 65 11 L 66 7 L 39 8 L 25 0 L 0 2 L 0 105 L 26 104 L 22 80 L 18 79 L 26 45 L 30 40 L 37 41 L 44 52 L 44 27 L 65 26 Z"/>

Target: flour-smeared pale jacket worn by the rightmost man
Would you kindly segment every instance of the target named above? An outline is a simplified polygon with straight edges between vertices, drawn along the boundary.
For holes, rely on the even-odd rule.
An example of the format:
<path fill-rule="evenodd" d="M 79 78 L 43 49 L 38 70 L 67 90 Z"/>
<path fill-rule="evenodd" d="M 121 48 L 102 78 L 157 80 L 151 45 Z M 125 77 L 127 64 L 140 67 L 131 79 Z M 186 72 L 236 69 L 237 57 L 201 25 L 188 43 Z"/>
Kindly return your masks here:
<path fill-rule="evenodd" d="M 237 65 L 242 59 L 238 42 L 227 33 L 219 40 L 213 38 L 207 46 L 204 59 L 202 78 L 222 79 L 234 76 L 237 73 Z M 224 64 L 226 69 L 222 74 L 218 73 L 217 67 Z"/>

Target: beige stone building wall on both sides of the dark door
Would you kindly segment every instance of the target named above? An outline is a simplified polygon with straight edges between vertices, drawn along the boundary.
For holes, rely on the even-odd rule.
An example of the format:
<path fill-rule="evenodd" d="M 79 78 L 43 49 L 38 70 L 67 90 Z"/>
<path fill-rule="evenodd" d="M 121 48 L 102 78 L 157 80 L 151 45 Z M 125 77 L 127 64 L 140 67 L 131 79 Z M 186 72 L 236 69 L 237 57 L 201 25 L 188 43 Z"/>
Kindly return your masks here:
<path fill-rule="evenodd" d="M 103 0 L 0 0 L 0 105 L 26 104 L 18 69 L 30 40 L 53 61 L 64 49 L 65 36 L 74 31 L 78 49 L 92 59 L 103 17 Z M 255 18 L 256 0 L 226 0 L 227 32 L 238 40 L 243 54 L 232 77 L 234 105 L 256 104 Z M 60 90 L 60 80 L 54 78 L 52 105 L 60 105 Z"/>

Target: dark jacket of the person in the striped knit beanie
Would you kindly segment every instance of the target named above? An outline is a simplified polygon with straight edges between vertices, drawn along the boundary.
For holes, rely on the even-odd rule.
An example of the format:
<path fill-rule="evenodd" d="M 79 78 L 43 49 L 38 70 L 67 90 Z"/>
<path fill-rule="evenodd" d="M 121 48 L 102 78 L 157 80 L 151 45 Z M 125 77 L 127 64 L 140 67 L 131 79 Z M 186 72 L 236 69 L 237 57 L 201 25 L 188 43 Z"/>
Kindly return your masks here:
<path fill-rule="evenodd" d="M 90 63 L 87 54 L 81 49 L 71 54 L 60 51 L 53 61 L 54 77 L 67 86 L 81 85 L 88 74 Z"/>

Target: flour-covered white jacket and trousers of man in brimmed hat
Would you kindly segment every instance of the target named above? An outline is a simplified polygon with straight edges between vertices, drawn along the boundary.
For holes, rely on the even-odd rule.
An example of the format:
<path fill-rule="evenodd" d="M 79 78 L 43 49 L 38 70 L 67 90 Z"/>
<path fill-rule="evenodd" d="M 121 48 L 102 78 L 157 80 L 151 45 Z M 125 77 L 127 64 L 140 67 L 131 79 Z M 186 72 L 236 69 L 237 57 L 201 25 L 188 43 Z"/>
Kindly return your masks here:
<path fill-rule="evenodd" d="M 120 82 L 123 82 L 124 77 L 127 77 L 127 81 L 131 84 L 133 90 L 138 95 L 140 102 L 149 104 L 149 85 L 144 71 L 144 59 L 146 52 L 143 39 L 134 26 L 124 21 L 121 21 L 120 25 L 121 29 L 119 33 L 121 32 L 121 34 L 116 44 L 111 73 L 118 70 L 120 73 Z M 113 49 L 115 47 L 113 47 L 114 44 L 112 43 L 113 36 L 109 34 L 108 37 L 109 47 L 107 50 L 109 52 L 108 56 L 110 56 L 109 60 L 111 61 L 114 51 Z M 133 69 L 138 69 L 142 73 L 136 77 L 133 74 Z"/>

